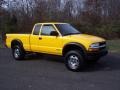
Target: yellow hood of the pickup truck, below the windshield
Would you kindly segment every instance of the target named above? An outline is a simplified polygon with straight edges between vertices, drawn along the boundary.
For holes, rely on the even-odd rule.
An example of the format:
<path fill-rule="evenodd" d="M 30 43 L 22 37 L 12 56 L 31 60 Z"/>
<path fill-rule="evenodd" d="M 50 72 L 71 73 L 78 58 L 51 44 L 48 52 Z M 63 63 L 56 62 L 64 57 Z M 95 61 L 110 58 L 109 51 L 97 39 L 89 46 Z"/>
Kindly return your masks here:
<path fill-rule="evenodd" d="M 87 34 L 78 34 L 78 35 L 70 35 L 70 39 L 77 40 L 77 41 L 86 41 L 88 43 L 96 43 L 96 42 L 103 42 L 105 39 L 97 36 L 87 35 Z"/>

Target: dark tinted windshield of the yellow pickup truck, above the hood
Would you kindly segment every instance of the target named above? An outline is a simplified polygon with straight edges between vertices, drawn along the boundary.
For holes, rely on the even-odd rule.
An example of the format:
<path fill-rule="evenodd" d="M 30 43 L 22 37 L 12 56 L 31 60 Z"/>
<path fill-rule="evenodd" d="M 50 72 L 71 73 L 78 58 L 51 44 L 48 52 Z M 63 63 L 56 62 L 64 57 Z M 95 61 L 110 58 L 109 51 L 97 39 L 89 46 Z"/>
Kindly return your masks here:
<path fill-rule="evenodd" d="M 80 32 L 70 24 L 55 24 L 55 25 L 63 36 L 80 34 Z"/>

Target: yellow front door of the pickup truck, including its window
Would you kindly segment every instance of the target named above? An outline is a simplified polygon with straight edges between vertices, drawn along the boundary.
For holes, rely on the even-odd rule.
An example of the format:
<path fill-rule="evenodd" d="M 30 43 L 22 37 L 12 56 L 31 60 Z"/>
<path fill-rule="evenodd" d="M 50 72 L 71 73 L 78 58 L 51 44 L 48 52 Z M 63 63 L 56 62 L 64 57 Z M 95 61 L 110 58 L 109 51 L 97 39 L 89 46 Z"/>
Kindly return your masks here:
<path fill-rule="evenodd" d="M 52 32 L 58 34 L 57 30 L 52 24 L 45 24 L 41 28 L 41 35 L 39 36 L 38 48 L 43 53 L 47 54 L 62 54 L 62 37 L 53 35 Z"/>

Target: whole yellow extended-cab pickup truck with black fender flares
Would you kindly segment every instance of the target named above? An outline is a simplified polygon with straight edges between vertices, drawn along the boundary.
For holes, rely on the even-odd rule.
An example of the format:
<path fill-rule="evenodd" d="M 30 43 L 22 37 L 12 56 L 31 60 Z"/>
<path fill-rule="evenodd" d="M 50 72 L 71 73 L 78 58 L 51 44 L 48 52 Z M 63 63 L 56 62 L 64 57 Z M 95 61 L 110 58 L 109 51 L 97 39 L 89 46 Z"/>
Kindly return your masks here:
<path fill-rule="evenodd" d="M 6 46 L 16 60 L 23 60 L 27 52 L 63 56 L 71 71 L 108 53 L 103 38 L 82 34 L 68 23 L 37 23 L 31 34 L 6 34 Z"/>

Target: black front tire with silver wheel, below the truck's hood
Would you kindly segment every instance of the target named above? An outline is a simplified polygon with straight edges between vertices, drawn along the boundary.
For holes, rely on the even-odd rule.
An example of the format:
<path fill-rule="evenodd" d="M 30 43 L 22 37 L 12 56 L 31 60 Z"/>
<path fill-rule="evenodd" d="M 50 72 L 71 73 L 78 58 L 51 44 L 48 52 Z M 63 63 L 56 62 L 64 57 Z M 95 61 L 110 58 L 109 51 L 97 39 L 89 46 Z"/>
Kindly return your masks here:
<path fill-rule="evenodd" d="M 69 70 L 74 72 L 82 70 L 84 66 L 84 57 L 82 53 L 77 50 L 69 51 L 65 55 L 65 65 Z"/>

